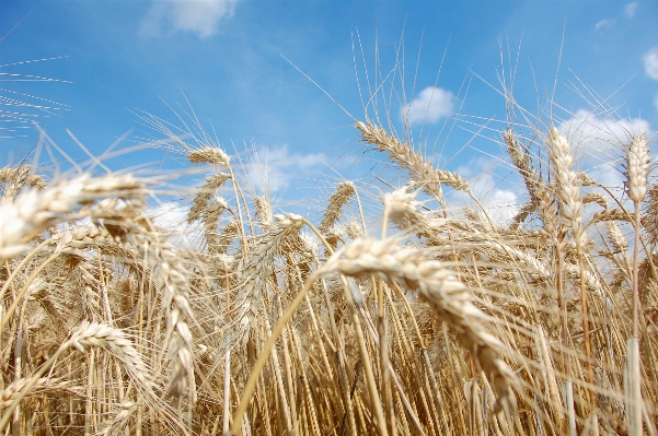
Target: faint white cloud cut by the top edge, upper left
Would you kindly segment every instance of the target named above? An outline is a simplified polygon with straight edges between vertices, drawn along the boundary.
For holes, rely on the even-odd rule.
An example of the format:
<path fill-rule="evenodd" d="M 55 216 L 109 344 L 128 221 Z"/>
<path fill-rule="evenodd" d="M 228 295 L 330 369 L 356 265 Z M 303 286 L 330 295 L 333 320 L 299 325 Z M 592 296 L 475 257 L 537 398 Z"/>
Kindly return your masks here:
<path fill-rule="evenodd" d="M 141 33 L 158 36 L 163 28 L 172 28 L 204 39 L 218 32 L 222 19 L 233 16 L 236 1 L 154 0 L 141 22 Z"/>

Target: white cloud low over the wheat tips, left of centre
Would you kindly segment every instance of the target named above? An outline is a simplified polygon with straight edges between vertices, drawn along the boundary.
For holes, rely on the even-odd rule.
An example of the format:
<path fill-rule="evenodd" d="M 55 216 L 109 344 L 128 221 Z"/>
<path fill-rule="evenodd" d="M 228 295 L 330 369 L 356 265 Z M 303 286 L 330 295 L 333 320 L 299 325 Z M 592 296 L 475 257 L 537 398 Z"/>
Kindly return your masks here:
<path fill-rule="evenodd" d="M 288 145 L 258 148 L 257 157 L 246 165 L 246 174 L 258 192 L 265 188 L 269 193 L 285 189 L 295 177 L 303 177 L 315 166 L 321 165 L 323 154 L 290 153 Z"/>

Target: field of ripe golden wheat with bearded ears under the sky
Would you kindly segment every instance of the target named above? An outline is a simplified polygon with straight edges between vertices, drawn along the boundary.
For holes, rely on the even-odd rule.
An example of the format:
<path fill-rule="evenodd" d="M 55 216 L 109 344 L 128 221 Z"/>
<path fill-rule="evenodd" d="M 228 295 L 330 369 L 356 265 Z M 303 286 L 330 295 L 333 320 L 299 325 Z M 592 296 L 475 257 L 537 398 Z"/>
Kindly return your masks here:
<path fill-rule="evenodd" d="M 141 119 L 201 172 L 185 234 L 153 217 L 163 177 L 0 169 L 2 434 L 657 435 L 650 138 L 614 144 L 613 189 L 573 131 L 509 121 L 501 223 L 365 117 L 402 182 L 302 216 L 204 130 Z"/>

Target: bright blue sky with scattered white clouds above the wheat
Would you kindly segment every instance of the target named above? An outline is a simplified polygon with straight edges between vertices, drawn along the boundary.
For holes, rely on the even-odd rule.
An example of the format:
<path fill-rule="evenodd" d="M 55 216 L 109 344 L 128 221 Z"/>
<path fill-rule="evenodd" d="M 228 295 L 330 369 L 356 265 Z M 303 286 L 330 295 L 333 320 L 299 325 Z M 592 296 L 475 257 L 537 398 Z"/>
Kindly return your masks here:
<path fill-rule="evenodd" d="M 651 133 L 657 22 L 655 1 L 0 0 L 0 95 L 4 103 L 44 104 L 15 93 L 56 102 L 48 105 L 62 110 L 53 116 L 19 109 L 41 115 L 36 121 L 77 160 L 85 154 L 66 129 L 100 155 L 127 132 L 117 148 L 162 138 L 130 110 L 180 125 L 168 105 L 189 110 L 186 96 L 229 153 L 259 151 L 270 190 L 285 192 L 311 187 L 319 175 L 368 181 L 383 157 L 361 156 L 353 119 L 296 67 L 357 119 L 365 118 L 361 96 L 367 101 L 383 78 L 382 115 L 382 95 L 393 95 L 389 113 L 402 131 L 411 104 L 415 146 L 437 165 L 474 176 L 492 172 L 504 154 L 495 131 L 506 119 L 498 78 L 509 78 L 510 67 L 515 95 L 532 114 L 545 107 L 557 74 L 562 119 L 579 114 L 597 123 L 602 108 L 613 108 L 616 119 Z M 64 58 L 14 64 L 56 57 Z M 605 104 L 597 106 L 599 98 Z M 484 130 L 488 139 L 474 137 L 482 126 L 494 129 Z M 0 166 L 38 137 L 32 127 L 20 134 L 26 138 L 0 139 Z M 354 156 L 361 156 L 358 165 Z M 162 157 L 162 150 L 140 151 L 106 164 L 118 169 Z"/>

